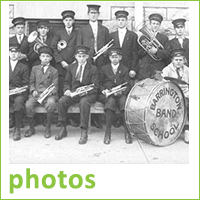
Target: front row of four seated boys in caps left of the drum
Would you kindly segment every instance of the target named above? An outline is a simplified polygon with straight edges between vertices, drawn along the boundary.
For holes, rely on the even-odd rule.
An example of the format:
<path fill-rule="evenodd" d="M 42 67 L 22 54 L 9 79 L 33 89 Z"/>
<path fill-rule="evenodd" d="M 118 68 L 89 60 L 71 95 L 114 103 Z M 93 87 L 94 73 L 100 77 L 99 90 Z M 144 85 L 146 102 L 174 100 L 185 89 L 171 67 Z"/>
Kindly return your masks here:
<path fill-rule="evenodd" d="M 39 105 L 37 101 L 38 97 L 53 83 L 55 88 L 42 102 L 42 105 L 47 111 L 47 124 L 44 133 L 45 138 L 51 137 L 52 116 L 56 107 L 58 108 L 58 121 L 61 122 L 61 129 L 59 133 L 56 134 L 55 139 L 61 140 L 67 136 L 67 110 L 71 105 L 79 103 L 81 128 L 79 144 L 85 144 L 88 139 L 87 131 L 90 106 L 97 100 L 97 91 L 100 90 L 101 95 L 99 96 L 98 101 L 104 104 L 106 114 L 104 143 L 110 144 L 112 120 L 117 109 L 121 111 L 123 119 L 125 142 L 127 144 L 132 143 L 132 138 L 126 127 L 124 117 L 126 97 L 131 89 L 131 86 L 128 69 L 120 63 L 120 60 L 122 59 L 122 50 L 119 47 L 111 47 L 108 51 L 110 63 L 103 66 L 100 71 L 98 71 L 97 67 L 88 61 L 88 52 L 89 48 L 86 46 L 81 45 L 76 47 L 76 62 L 69 65 L 63 84 L 64 95 L 58 99 L 58 73 L 57 70 L 50 65 L 50 61 L 53 56 L 52 49 L 48 46 L 43 46 L 39 49 L 41 64 L 33 67 L 29 79 L 28 67 L 18 61 L 19 46 L 17 44 L 10 44 L 9 89 L 12 90 L 29 85 L 29 94 L 28 91 L 26 91 L 21 94 L 9 96 L 10 113 L 13 113 L 15 119 L 13 135 L 14 141 L 21 139 L 20 124 L 25 107 L 30 125 L 30 129 L 26 131 L 25 137 L 30 137 L 35 134 L 34 114 L 35 108 Z M 182 65 L 178 65 L 180 65 L 181 68 L 184 68 L 184 74 L 182 74 L 182 79 L 184 79 L 186 75 L 189 75 L 188 67 L 184 66 L 184 55 L 181 50 L 178 50 L 179 54 L 177 54 L 177 51 L 174 52 L 176 53 L 173 53 L 174 57 L 176 56 L 182 59 Z M 180 63 L 180 61 L 178 62 Z M 183 72 L 183 69 L 181 70 Z M 186 77 L 186 79 L 185 81 L 189 82 L 189 77 Z M 117 91 L 108 96 L 112 88 L 125 83 L 125 90 Z M 72 93 L 77 88 L 91 84 L 93 84 L 92 90 L 72 97 Z M 58 104 L 56 105 L 57 101 Z M 189 140 L 186 142 L 189 142 Z"/>

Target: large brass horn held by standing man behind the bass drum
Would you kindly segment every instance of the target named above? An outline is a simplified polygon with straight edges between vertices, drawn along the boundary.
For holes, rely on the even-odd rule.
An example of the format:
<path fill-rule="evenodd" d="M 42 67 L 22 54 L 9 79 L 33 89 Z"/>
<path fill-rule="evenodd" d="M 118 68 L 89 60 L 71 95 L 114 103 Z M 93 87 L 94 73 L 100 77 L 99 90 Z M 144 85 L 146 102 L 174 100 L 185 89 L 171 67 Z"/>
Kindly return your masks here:
<path fill-rule="evenodd" d="M 152 47 L 156 49 L 164 49 L 163 45 L 154 37 L 153 33 L 148 29 L 147 26 L 144 26 L 139 30 L 142 34 L 138 37 L 138 44 L 156 61 L 159 61 L 155 54 L 150 52 Z"/>

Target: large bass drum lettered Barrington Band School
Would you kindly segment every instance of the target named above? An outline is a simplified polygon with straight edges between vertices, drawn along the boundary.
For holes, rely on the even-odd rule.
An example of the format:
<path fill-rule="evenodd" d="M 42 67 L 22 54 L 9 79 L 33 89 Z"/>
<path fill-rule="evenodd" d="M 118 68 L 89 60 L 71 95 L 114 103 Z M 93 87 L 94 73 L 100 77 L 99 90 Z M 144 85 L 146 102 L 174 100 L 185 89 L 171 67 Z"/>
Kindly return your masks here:
<path fill-rule="evenodd" d="M 131 89 L 125 105 L 129 131 L 156 146 L 176 141 L 186 120 L 185 97 L 170 81 L 145 79 Z"/>

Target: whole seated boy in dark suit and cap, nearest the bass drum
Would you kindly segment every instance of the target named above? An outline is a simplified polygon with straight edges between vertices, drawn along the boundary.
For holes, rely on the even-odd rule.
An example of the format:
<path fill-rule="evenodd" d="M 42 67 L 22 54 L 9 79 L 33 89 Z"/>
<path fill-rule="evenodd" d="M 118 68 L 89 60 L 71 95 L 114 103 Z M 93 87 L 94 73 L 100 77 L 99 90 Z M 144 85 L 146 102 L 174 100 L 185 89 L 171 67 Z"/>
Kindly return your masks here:
<path fill-rule="evenodd" d="M 104 143 L 110 144 L 111 141 L 111 126 L 115 112 L 117 109 L 121 111 L 122 121 L 125 132 L 125 142 L 132 143 L 130 133 L 125 123 L 125 102 L 126 97 L 131 89 L 129 70 L 120 62 L 122 60 L 122 49 L 120 47 L 111 47 L 109 50 L 110 63 L 101 67 L 99 73 L 100 92 L 99 101 L 104 104 L 106 113 L 106 131 L 104 136 Z M 116 91 L 108 96 L 114 87 L 126 83 L 124 91 Z"/>

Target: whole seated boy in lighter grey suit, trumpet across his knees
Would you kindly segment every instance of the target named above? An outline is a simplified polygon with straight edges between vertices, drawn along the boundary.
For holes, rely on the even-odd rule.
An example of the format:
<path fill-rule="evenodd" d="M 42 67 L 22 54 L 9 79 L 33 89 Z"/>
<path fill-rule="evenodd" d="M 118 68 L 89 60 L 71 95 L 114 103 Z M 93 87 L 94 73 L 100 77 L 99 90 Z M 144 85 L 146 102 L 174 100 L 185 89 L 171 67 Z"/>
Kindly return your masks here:
<path fill-rule="evenodd" d="M 34 114 L 35 108 L 40 105 L 38 98 L 47 91 L 48 87 L 53 84 L 54 89 L 44 98 L 41 104 L 47 110 L 47 124 L 44 133 L 45 138 L 51 137 L 51 121 L 54 111 L 56 110 L 58 73 L 50 65 L 53 51 L 48 46 L 39 49 L 39 59 L 41 64 L 33 67 L 30 76 L 30 95 L 26 102 L 26 115 L 29 118 L 30 129 L 26 131 L 25 137 L 35 134 Z"/>

